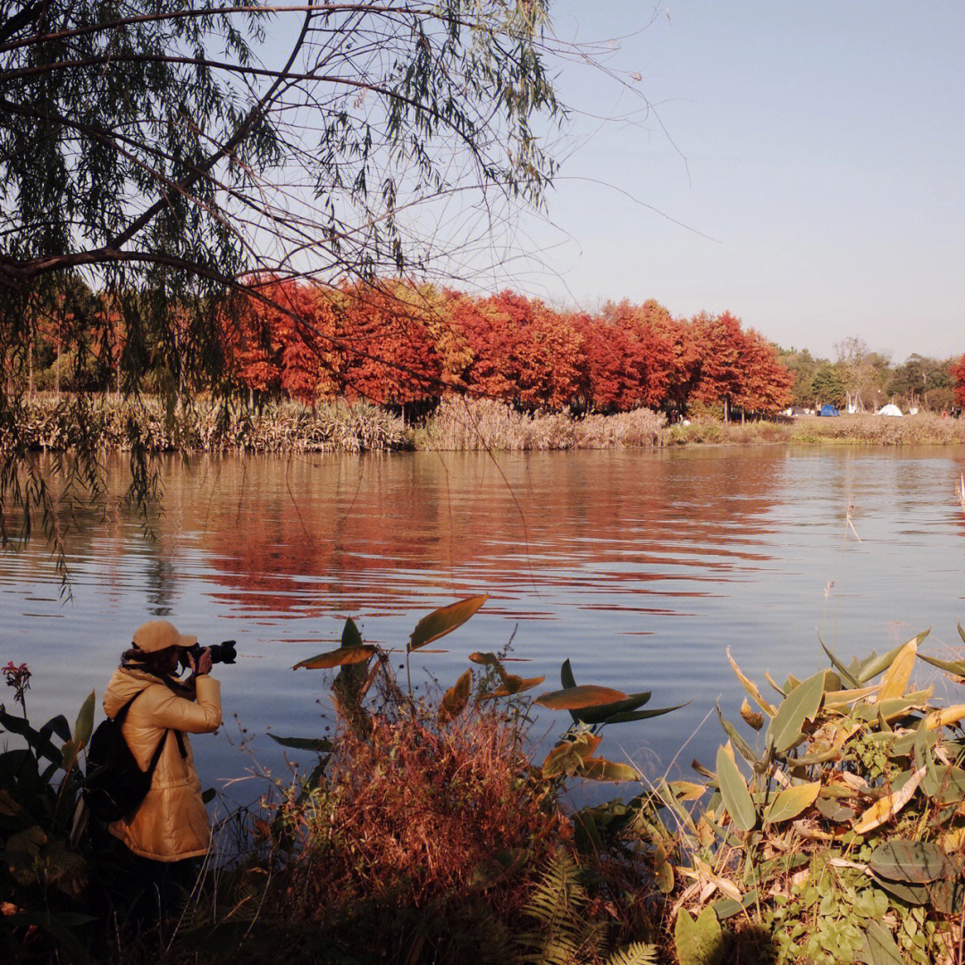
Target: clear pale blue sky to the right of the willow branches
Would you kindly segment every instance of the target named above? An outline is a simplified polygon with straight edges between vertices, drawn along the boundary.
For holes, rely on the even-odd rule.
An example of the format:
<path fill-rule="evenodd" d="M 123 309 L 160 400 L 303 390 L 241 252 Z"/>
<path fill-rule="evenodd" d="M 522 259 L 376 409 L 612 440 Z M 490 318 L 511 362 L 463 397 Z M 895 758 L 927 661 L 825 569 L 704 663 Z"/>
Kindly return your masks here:
<path fill-rule="evenodd" d="M 528 222 L 546 252 L 532 293 L 728 309 L 821 355 L 848 335 L 895 361 L 965 351 L 965 4 L 553 10 L 561 37 L 623 38 L 606 63 L 642 78 L 666 133 L 574 121 L 599 129 L 564 164 L 556 229 Z M 597 114 L 639 106 L 590 69 L 559 83 Z"/>

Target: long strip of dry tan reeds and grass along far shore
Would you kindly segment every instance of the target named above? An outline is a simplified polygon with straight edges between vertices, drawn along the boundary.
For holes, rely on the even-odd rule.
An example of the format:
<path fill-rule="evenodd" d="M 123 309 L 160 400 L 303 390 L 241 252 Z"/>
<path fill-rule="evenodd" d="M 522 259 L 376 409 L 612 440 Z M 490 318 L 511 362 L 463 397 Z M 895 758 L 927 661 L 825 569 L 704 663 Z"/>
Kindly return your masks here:
<path fill-rule="evenodd" d="M 30 448 L 68 451 L 85 442 L 148 452 L 359 453 L 425 451 L 670 448 L 695 444 L 950 445 L 965 444 L 965 420 L 930 413 L 901 419 L 856 415 L 723 423 L 696 419 L 668 426 L 648 409 L 573 418 L 525 413 L 493 400 L 444 400 L 415 424 L 368 403 L 306 407 L 270 403 L 259 409 L 199 401 L 167 411 L 154 400 L 133 404 L 38 395 L 22 401 L 16 428 Z M 0 427 L 0 445 L 10 429 Z"/>

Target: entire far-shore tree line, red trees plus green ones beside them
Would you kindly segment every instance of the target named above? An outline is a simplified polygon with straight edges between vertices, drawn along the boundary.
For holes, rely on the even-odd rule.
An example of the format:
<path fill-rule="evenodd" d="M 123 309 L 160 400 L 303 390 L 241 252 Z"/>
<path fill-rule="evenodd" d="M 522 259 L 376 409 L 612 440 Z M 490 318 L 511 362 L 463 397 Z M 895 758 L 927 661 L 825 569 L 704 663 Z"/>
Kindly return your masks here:
<path fill-rule="evenodd" d="M 368 401 L 415 421 L 452 398 L 502 402 L 535 421 L 649 409 L 669 424 L 744 422 L 822 403 L 859 413 L 889 401 L 936 413 L 965 404 L 965 356 L 913 354 L 893 365 L 846 338 L 832 361 L 780 348 L 729 312 L 676 318 L 648 300 L 607 303 L 591 315 L 513 291 L 473 296 L 392 281 L 324 287 L 267 279 L 257 290 L 263 300 L 248 298 L 231 315 L 212 307 L 216 358 L 209 350 L 172 367 L 170 357 L 152 361 L 166 356 L 150 339 L 128 341 L 112 296 L 78 289 L 38 316 L 9 388 L 28 397 L 213 394 L 246 399 L 259 412 Z"/>

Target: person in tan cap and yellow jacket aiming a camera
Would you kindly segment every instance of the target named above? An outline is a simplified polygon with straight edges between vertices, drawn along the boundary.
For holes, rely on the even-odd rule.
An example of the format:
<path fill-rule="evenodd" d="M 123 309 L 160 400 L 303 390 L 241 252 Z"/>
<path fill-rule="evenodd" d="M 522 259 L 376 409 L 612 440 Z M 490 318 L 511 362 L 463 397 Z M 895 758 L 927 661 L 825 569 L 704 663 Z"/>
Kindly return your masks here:
<path fill-rule="evenodd" d="M 210 733 L 221 724 L 221 691 L 208 676 L 211 651 L 197 658 L 198 638 L 181 635 L 168 620 L 138 627 L 131 648 L 104 692 L 111 718 L 128 706 L 122 733 L 138 766 L 156 758 L 151 787 L 137 808 L 107 830 L 139 859 L 138 877 L 157 892 L 162 911 L 175 890 L 189 887 L 191 859 L 210 846 L 207 811 L 185 734 Z M 179 680 L 181 666 L 191 675 Z"/>

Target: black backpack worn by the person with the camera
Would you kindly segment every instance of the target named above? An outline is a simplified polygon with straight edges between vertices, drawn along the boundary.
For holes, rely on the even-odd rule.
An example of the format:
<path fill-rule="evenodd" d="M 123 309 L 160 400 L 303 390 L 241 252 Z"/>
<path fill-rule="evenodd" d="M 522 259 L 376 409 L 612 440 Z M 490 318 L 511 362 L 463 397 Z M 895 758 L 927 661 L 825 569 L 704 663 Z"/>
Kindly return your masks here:
<path fill-rule="evenodd" d="M 131 813 L 145 798 L 157 761 L 168 739 L 164 731 L 147 771 L 137 766 L 121 731 L 130 705 L 144 691 L 135 694 L 118 713 L 97 725 L 87 748 L 87 778 L 84 800 L 91 813 L 101 821 L 117 821 Z M 180 736 L 180 735 L 179 735 Z"/>

